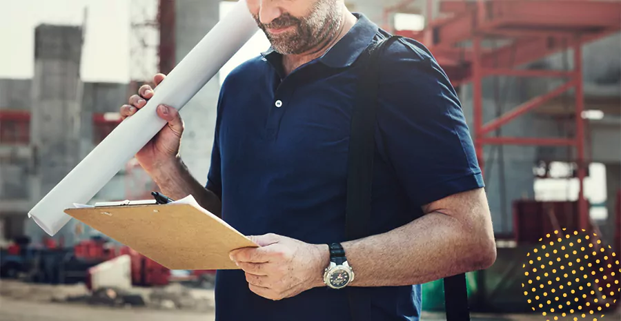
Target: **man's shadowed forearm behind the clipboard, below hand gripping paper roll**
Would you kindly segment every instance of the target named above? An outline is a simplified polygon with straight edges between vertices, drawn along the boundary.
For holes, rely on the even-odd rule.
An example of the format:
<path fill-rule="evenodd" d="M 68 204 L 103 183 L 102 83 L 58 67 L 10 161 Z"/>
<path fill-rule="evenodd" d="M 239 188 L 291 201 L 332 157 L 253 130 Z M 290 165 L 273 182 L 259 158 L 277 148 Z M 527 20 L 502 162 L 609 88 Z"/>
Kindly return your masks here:
<path fill-rule="evenodd" d="M 221 202 L 217 195 L 202 186 L 180 158 L 160 166 L 151 177 L 164 195 L 173 200 L 192 195 L 200 206 L 221 216 Z"/>

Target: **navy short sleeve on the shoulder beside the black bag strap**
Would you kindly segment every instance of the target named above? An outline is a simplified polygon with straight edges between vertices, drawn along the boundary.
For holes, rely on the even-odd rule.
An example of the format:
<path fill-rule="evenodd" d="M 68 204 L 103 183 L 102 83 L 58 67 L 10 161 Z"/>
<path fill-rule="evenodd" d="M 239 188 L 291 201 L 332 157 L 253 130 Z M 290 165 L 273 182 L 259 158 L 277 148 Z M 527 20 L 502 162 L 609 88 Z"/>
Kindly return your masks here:
<path fill-rule="evenodd" d="M 451 82 L 420 43 L 397 41 L 380 75 L 380 153 L 415 204 L 484 186 Z"/>

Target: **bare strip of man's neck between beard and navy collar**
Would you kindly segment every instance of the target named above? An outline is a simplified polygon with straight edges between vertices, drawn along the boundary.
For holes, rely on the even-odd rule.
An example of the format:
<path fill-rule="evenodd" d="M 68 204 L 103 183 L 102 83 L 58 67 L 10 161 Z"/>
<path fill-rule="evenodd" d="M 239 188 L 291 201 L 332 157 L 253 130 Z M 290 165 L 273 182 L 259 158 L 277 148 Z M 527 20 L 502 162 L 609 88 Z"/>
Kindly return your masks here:
<path fill-rule="evenodd" d="M 333 37 L 328 37 L 326 41 L 322 41 L 318 43 L 317 46 L 311 48 L 310 50 L 303 52 L 298 55 L 283 55 L 282 64 L 284 66 L 284 71 L 286 75 L 289 75 L 293 70 L 297 69 L 299 66 L 302 66 L 309 61 L 313 61 L 319 57 L 322 57 L 332 46 L 335 45 L 342 37 L 344 37 L 349 30 L 355 25 L 356 17 L 347 10 L 347 8 L 343 8 L 341 14 L 341 21 L 339 23 L 339 30 L 335 32 Z"/>

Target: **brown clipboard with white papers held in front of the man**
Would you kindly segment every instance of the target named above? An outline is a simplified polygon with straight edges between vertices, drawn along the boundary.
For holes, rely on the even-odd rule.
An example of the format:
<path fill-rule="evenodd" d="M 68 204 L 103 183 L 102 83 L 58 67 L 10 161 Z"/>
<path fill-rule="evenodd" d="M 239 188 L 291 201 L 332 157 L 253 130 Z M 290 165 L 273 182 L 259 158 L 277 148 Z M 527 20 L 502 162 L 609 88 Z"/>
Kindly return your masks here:
<path fill-rule="evenodd" d="M 65 213 L 171 270 L 239 269 L 230 251 L 259 247 L 191 195 L 170 204 L 67 208 Z"/>

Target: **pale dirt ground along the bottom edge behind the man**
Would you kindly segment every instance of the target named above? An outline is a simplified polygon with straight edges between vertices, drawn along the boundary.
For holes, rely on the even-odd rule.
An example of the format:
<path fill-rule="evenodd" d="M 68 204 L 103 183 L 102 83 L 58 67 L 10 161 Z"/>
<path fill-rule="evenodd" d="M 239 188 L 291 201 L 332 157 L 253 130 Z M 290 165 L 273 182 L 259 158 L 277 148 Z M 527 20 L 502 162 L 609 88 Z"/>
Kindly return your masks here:
<path fill-rule="evenodd" d="M 105 307 L 86 301 L 68 300 L 88 295 L 83 285 L 50 286 L 0 280 L 0 321 L 213 321 L 213 290 L 183 289 L 170 286 L 166 289 L 133 289 L 149 300 L 160 295 L 169 304 L 146 304 L 144 307 Z M 175 297 L 192 298 L 194 304 L 173 304 Z M 158 301 L 159 302 L 159 301 Z M 582 319 L 578 316 L 579 320 Z M 260 320 L 257 319 L 257 320 Z M 422 321 L 444 321 L 443 313 L 423 313 Z M 546 320 L 541 315 L 473 315 L 473 321 L 527 321 Z M 560 319 L 561 320 L 561 319 Z M 573 320 L 573 318 L 565 319 Z M 591 319 L 592 320 L 592 319 Z M 606 315 L 603 320 L 621 320 L 621 314 Z"/>

